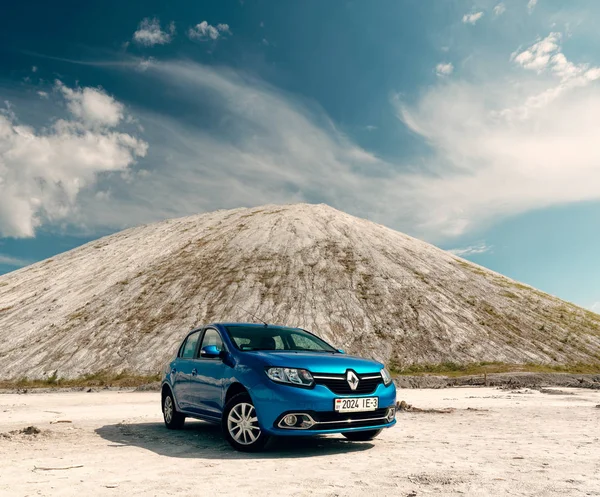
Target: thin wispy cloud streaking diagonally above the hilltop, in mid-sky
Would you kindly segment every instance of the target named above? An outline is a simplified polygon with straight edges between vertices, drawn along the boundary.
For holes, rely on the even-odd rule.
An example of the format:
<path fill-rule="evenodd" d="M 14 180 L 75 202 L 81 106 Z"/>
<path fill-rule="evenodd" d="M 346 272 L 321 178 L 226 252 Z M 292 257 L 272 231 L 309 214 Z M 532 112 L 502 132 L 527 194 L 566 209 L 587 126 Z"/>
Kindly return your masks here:
<path fill-rule="evenodd" d="M 294 201 L 323 201 L 393 219 L 396 209 L 380 202 L 383 196 L 397 205 L 390 197 L 401 195 L 397 173 L 350 141 L 326 115 L 227 69 L 157 62 L 138 75 L 152 78 L 189 109 L 219 115 L 219 132 L 138 112 L 152 144 L 143 164 L 147 173 L 138 175 L 133 168 L 134 179 L 126 185 L 115 174 L 105 175 L 102 187 L 111 192 L 109 201 L 81 195 L 75 222 L 122 227 L 216 208 Z"/>

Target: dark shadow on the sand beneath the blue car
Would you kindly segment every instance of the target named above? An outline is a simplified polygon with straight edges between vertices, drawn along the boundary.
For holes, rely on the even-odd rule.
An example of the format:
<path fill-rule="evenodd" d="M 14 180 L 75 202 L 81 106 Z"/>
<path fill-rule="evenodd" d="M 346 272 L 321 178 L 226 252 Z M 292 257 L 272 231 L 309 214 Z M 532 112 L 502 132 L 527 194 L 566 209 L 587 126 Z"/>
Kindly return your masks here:
<path fill-rule="evenodd" d="M 183 430 L 168 430 L 163 423 L 118 423 L 95 430 L 110 447 L 134 446 L 161 456 L 210 459 L 274 459 L 315 457 L 368 450 L 370 442 L 335 437 L 274 437 L 262 452 L 237 452 L 225 441 L 221 427 L 203 421 L 186 421 Z"/>

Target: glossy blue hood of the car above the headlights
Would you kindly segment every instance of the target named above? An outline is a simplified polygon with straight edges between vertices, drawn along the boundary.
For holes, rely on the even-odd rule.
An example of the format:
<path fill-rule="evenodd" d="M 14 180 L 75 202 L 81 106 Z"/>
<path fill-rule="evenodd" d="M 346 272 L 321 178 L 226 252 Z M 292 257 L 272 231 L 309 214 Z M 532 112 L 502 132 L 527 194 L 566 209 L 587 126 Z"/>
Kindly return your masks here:
<path fill-rule="evenodd" d="M 370 359 L 363 359 L 346 354 L 329 354 L 323 352 L 246 352 L 262 359 L 266 365 L 288 368 L 303 368 L 313 373 L 343 374 L 348 369 L 356 373 L 376 373 L 383 364 Z"/>

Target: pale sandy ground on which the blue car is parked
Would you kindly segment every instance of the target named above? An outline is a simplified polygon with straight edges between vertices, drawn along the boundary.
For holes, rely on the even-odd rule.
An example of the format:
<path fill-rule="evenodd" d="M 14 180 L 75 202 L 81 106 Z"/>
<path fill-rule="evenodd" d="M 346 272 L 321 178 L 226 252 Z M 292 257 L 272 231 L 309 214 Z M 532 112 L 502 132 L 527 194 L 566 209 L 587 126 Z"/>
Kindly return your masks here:
<path fill-rule="evenodd" d="M 398 398 L 454 410 L 399 413 L 373 442 L 280 439 L 248 455 L 209 424 L 167 431 L 156 393 L 0 395 L 0 495 L 600 495 L 599 391 Z M 10 433 L 29 425 L 42 432 Z"/>

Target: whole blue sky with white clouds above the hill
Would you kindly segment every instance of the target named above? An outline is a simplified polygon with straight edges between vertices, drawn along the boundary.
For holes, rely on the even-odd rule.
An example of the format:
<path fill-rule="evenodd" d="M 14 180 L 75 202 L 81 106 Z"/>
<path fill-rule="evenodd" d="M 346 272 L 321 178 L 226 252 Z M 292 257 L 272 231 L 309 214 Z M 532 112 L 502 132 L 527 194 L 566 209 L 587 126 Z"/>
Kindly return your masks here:
<path fill-rule="evenodd" d="M 13 2 L 0 274 L 327 203 L 600 311 L 600 2 Z"/>

